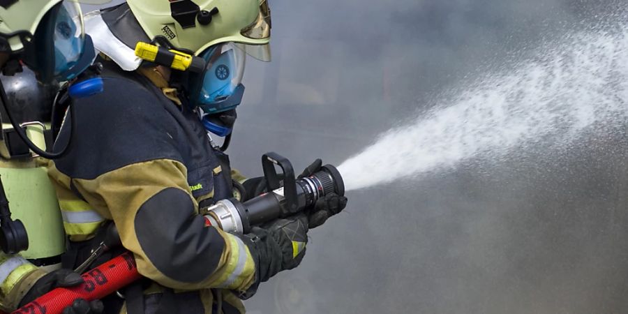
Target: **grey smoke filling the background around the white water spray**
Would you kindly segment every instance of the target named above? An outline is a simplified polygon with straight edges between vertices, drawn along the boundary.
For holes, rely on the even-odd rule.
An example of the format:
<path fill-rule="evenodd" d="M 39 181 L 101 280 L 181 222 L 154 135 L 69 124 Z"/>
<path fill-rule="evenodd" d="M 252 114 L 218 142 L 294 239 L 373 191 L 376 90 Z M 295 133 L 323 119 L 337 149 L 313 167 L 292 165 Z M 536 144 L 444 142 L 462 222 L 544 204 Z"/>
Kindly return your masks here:
<path fill-rule="evenodd" d="M 232 166 L 276 151 L 338 165 L 619 0 L 270 1 L 273 61 L 249 59 Z M 624 313 L 628 140 L 598 128 L 500 160 L 348 193 L 304 262 L 263 283 L 249 313 Z M 391 150 L 396 149 L 391 145 Z M 387 166 L 382 156 L 381 167 Z M 364 169 L 368 172 L 368 169 Z"/>

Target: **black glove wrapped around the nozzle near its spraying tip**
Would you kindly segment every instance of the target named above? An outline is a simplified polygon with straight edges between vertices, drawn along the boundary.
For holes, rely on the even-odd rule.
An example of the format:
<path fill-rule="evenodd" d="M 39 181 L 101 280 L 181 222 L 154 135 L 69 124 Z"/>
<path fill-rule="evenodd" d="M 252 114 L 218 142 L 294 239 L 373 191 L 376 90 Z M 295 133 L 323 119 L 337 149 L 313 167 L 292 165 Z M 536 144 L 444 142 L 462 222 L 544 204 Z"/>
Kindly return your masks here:
<path fill-rule="evenodd" d="M 298 178 L 310 177 L 312 174 L 319 172 L 321 167 L 322 160 L 314 160 L 311 165 L 308 165 L 308 167 L 299 174 Z M 337 195 L 336 193 L 329 193 L 319 198 L 314 205 L 314 209 L 308 212 L 308 227 L 313 229 L 322 225 L 329 217 L 340 213 L 345 207 L 347 207 L 347 197 Z"/>

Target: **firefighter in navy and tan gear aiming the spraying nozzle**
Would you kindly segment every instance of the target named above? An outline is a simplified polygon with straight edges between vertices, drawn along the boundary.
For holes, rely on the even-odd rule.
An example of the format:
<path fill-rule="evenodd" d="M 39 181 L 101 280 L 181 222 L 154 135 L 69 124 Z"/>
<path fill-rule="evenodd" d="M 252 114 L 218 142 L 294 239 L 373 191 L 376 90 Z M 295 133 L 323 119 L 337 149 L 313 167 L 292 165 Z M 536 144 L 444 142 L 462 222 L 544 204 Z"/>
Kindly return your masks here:
<path fill-rule="evenodd" d="M 57 144 L 81 131 L 49 175 L 70 239 L 64 267 L 84 263 L 114 225 L 145 277 L 103 299 L 106 313 L 244 313 L 241 299 L 300 264 L 311 219 L 320 225 L 346 202 L 326 200 L 335 205 L 241 237 L 206 225 L 203 209 L 234 195 L 227 156 L 207 132 L 232 127 L 244 54 L 268 59 L 271 24 L 265 0 L 200 2 L 129 0 L 86 17 L 105 92 L 77 100 Z M 190 74 L 142 61 L 139 42 L 194 54 L 204 66 Z"/>

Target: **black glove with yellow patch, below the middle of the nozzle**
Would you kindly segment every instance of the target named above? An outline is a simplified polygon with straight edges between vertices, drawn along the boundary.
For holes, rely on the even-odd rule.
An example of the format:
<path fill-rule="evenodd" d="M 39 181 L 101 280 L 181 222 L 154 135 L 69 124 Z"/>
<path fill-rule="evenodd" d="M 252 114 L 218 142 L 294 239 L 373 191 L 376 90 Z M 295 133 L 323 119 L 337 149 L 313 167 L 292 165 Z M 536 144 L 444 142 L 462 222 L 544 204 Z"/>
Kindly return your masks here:
<path fill-rule="evenodd" d="M 253 227 L 249 234 L 240 237 L 255 260 L 255 283 L 241 294 L 241 298 L 248 299 L 260 283 L 279 271 L 301 264 L 308 243 L 308 218 L 299 214 L 278 219 L 262 227 Z"/>

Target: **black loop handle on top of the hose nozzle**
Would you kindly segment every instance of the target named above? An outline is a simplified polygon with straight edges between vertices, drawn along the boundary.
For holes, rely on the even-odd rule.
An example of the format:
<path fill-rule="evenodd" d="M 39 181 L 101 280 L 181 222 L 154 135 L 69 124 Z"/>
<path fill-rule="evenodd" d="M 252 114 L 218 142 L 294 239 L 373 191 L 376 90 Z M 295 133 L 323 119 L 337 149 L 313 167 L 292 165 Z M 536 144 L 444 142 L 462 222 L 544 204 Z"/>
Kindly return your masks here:
<path fill-rule="evenodd" d="M 281 188 L 281 180 L 277 170 L 275 170 L 275 165 L 278 165 L 283 170 L 283 197 L 287 205 L 285 208 L 290 213 L 295 214 L 299 211 L 297 183 L 294 179 L 294 169 L 290 160 L 273 152 L 262 155 L 262 169 L 264 170 L 264 179 L 266 179 L 266 186 L 269 192 Z"/>

